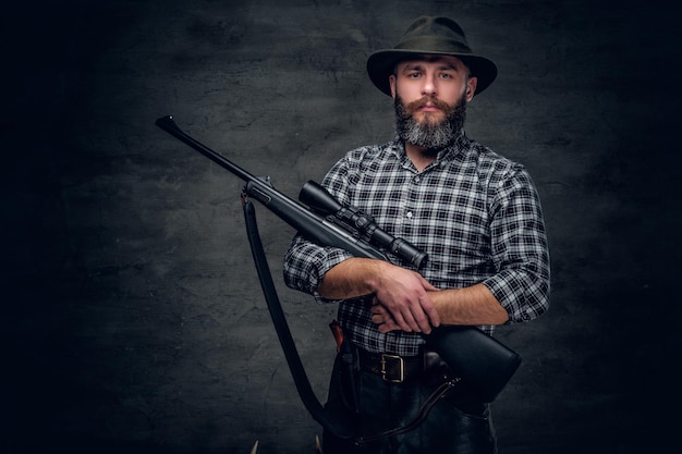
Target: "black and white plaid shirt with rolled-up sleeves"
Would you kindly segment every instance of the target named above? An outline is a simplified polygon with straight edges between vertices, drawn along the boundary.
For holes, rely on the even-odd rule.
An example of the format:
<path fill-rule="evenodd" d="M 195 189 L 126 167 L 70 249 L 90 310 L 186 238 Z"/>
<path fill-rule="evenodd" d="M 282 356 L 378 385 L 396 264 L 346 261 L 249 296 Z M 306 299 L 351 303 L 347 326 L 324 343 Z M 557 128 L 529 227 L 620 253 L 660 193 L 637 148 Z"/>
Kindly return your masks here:
<path fill-rule="evenodd" d="M 339 160 L 322 186 L 342 204 L 428 254 L 418 270 L 438 289 L 483 283 L 509 314 L 525 322 L 549 305 L 549 253 L 540 201 L 523 165 L 461 135 L 417 172 L 400 142 L 361 147 Z M 317 293 L 325 273 L 350 258 L 334 247 L 294 237 L 284 257 L 287 285 Z M 395 265 L 410 268 L 389 255 Z M 416 355 L 417 333 L 382 334 L 372 322 L 372 297 L 339 302 L 346 338 L 377 353 Z M 494 327 L 479 327 L 492 334 Z"/>

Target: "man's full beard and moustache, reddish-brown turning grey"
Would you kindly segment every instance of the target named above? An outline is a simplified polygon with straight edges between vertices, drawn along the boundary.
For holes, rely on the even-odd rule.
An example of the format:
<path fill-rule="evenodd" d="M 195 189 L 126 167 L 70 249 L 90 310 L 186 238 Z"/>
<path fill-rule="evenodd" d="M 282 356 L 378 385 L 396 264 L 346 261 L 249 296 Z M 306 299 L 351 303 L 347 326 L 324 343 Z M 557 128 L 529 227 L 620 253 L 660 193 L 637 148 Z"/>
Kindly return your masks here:
<path fill-rule="evenodd" d="M 395 96 L 395 132 L 398 138 L 409 144 L 430 150 L 439 150 L 451 145 L 461 134 L 466 118 L 466 99 L 462 96 L 453 106 L 438 99 L 431 102 L 443 111 L 444 118 L 437 122 L 433 114 L 426 113 L 423 122 L 414 118 L 414 112 L 426 105 L 428 98 L 404 105 L 400 96 Z"/>

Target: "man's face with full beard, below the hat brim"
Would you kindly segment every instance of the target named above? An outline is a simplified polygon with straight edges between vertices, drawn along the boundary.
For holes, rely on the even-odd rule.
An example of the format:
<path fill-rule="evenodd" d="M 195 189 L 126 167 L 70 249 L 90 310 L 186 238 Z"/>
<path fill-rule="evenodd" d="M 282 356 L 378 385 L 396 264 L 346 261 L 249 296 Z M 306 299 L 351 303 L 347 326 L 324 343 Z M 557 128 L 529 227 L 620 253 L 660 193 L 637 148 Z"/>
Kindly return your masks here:
<path fill-rule="evenodd" d="M 454 57 L 425 56 L 399 63 L 390 78 L 399 137 L 430 149 L 449 145 L 464 126 L 476 82 Z"/>

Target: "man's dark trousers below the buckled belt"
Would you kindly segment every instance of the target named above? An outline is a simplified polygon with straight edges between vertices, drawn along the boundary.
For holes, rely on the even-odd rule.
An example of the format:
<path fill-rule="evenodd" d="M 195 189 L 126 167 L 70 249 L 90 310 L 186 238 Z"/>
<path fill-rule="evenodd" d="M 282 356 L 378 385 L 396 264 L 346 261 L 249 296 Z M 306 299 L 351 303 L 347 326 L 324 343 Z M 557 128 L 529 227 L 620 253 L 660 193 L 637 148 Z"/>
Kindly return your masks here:
<path fill-rule="evenodd" d="M 411 422 L 438 385 L 426 377 L 407 383 L 390 383 L 375 373 L 356 371 L 358 410 L 354 412 L 350 408 L 353 398 L 341 369 L 337 360 L 326 408 L 353 425 L 363 437 Z M 325 454 L 495 454 L 497 447 L 488 406 L 467 400 L 465 389 L 458 385 L 438 401 L 418 428 L 407 433 L 357 445 L 325 430 Z"/>

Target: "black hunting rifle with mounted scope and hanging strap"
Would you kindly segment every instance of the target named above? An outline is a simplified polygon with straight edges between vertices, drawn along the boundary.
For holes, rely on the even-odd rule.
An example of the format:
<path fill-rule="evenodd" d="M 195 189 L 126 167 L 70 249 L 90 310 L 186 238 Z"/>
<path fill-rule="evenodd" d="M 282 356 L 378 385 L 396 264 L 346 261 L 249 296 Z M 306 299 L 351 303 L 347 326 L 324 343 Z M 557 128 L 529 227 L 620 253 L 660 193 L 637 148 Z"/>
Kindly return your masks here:
<path fill-rule="evenodd" d="M 418 269 L 426 262 L 427 255 L 406 241 L 383 232 L 369 216 L 341 206 L 322 186 L 313 181 L 308 181 L 301 189 L 299 198 L 308 205 L 305 207 L 275 189 L 269 177 L 259 179 L 249 174 L 192 138 L 178 127 L 172 116 L 159 118 L 156 125 L 246 183 L 243 197 L 247 234 L 268 308 L 299 394 L 308 412 L 325 428 L 340 438 L 352 437 L 344 424 L 333 420 L 327 414 L 310 388 L 269 275 L 248 197 L 258 200 L 308 240 L 319 245 L 343 248 L 356 257 L 389 260 L 387 254 L 380 249 L 383 247 Z M 482 402 L 495 401 L 521 365 L 521 356 L 516 352 L 476 327 L 441 326 L 431 330 L 430 334 L 424 334 L 424 338 L 427 345 L 468 383 Z"/>

